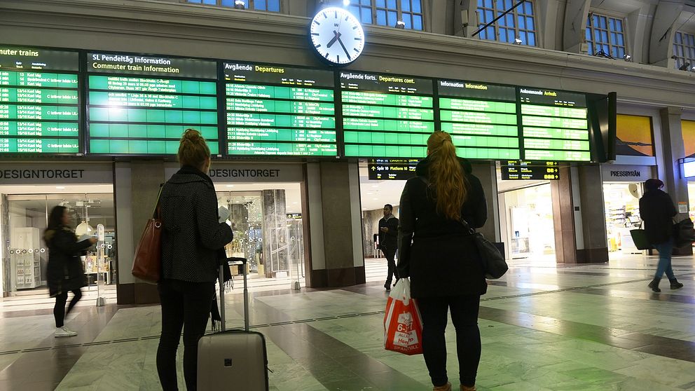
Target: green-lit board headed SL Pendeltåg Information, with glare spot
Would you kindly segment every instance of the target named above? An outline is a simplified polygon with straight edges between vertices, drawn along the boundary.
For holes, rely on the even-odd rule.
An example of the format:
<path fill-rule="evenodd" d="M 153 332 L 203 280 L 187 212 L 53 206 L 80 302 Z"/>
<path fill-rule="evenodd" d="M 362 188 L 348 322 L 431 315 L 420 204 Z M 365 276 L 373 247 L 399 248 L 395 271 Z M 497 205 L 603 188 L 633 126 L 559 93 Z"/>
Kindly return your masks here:
<path fill-rule="evenodd" d="M 88 53 L 88 152 L 174 155 L 184 130 L 219 154 L 214 61 Z"/>

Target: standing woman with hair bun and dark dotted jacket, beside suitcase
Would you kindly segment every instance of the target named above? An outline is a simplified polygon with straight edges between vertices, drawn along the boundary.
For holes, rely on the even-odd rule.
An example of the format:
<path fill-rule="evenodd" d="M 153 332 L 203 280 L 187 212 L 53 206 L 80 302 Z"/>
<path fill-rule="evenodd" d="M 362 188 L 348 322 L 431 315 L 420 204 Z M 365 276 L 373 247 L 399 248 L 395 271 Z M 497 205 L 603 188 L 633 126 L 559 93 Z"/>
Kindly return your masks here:
<path fill-rule="evenodd" d="M 184 379 L 188 391 L 198 381 L 198 340 L 205 327 L 219 275 L 219 250 L 232 241 L 232 229 L 219 221 L 217 196 L 210 168 L 210 149 L 198 130 L 181 137 L 181 169 L 164 185 L 162 220 L 162 279 L 157 284 L 162 303 L 162 334 L 157 372 L 165 391 L 178 390 L 176 352 L 184 330 Z"/>

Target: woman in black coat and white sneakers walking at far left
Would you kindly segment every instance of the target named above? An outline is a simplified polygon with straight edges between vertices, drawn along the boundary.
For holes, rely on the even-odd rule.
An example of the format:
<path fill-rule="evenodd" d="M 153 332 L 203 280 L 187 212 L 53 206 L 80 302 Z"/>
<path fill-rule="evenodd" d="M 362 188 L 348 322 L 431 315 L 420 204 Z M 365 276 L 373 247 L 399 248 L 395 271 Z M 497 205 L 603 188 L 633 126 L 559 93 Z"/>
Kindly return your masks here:
<path fill-rule="evenodd" d="M 77 335 L 75 331 L 65 327 L 65 316 L 82 298 L 81 287 L 87 285 L 80 256 L 97 242 L 96 238 L 78 242 L 75 231 L 70 228 L 71 220 L 72 216 L 67 207 L 54 207 L 48 217 L 48 228 L 43 233 L 43 240 L 48 246 L 48 293 L 50 297 L 55 297 L 53 317 L 56 329 L 53 335 L 56 337 Z M 66 311 L 68 291 L 71 291 L 73 296 Z"/>

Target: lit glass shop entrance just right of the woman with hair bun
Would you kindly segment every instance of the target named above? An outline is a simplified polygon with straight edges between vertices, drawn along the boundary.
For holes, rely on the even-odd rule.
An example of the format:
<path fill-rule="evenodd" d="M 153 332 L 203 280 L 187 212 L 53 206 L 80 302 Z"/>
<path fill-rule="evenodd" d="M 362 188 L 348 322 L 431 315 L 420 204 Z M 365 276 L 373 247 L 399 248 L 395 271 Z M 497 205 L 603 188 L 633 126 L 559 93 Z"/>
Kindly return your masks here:
<path fill-rule="evenodd" d="M 217 203 L 234 240 L 226 255 L 246 258 L 253 287 L 305 285 L 303 203 L 299 183 L 216 183 Z M 232 275 L 240 275 L 232 267 Z"/>

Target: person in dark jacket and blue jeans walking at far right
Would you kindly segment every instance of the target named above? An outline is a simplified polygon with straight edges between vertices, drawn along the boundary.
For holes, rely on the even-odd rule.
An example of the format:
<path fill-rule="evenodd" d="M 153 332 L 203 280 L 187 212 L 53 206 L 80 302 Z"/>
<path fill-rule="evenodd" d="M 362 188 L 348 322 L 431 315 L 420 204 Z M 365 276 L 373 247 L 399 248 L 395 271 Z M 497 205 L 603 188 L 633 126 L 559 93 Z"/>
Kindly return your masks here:
<path fill-rule="evenodd" d="M 673 253 L 673 217 L 677 214 L 673 200 L 661 188 L 663 182 L 659 179 L 647 179 L 645 195 L 640 198 L 640 217 L 645 222 L 645 233 L 652 246 L 659 252 L 659 264 L 656 266 L 654 280 L 648 287 L 660 292 L 659 282 L 663 273 L 670 281 L 671 289 L 679 289 L 683 284 L 673 275 L 671 254 Z"/>

